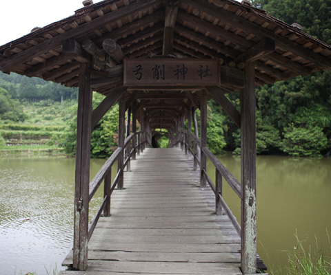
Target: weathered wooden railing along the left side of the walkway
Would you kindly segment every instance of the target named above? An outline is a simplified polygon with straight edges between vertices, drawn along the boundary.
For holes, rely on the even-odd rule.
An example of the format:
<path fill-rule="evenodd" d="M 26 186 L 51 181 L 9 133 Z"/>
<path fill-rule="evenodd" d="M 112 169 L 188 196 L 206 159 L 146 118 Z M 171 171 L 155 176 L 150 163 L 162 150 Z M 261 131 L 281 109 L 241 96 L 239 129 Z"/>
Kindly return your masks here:
<path fill-rule="evenodd" d="M 134 139 L 134 137 L 137 136 L 137 139 Z M 133 140 L 136 140 L 137 143 L 134 144 L 132 142 Z M 89 201 L 92 199 L 94 194 L 97 192 L 99 187 L 101 186 L 102 181 L 104 181 L 104 192 L 103 192 L 103 201 L 101 203 L 101 206 L 99 210 L 97 211 L 97 214 L 95 214 L 94 218 L 92 219 L 89 228 L 88 228 L 88 240 L 90 240 L 94 228 L 97 225 L 99 218 L 101 217 L 101 214 L 103 212 L 103 215 L 108 217 L 110 216 L 110 197 L 112 195 L 112 192 L 116 188 L 117 184 L 119 183 L 119 179 L 121 179 L 121 175 L 123 174 L 123 170 L 119 168 L 117 170 L 117 175 L 114 177 L 114 180 L 111 180 L 112 177 L 112 166 L 115 162 L 119 159 L 120 154 L 124 155 L 124 164 L 123 169 L 127 168 L 128 171 L 130 171 L 130 161 L 132 156 L 135 159 L 136 153 L 139 154 L 143 148 L 145 148 L 145 142 L 143 138 L 141 138 L 141 132 L 132 133 L 128 137 L 126 137 L 126 140 L 124 142 L 124 146 L 118 147 L 114 153 L 107 159 L 105 164 L 101 167 L 97 175 L 92 179 L 89 186 Z"/>

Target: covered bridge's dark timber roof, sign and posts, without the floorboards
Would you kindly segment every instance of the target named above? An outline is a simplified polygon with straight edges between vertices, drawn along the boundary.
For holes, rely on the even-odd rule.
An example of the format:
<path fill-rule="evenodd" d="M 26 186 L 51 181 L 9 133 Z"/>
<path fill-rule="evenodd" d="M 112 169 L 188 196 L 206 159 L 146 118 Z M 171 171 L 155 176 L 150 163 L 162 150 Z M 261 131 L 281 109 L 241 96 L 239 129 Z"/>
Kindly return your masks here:
<path fill-rule="evenodd" d="M 163 129 L 171 145 L 181 142 L 197 159 L 200 184 L 205 186 L 209 180 L 206 157 L 213 157 L 206 148 L 206 110 L 207 101 L 214 98 L 241 129 L 241 183 L 231 181 L 216 161 L 215 165 L 241 198 L 241 270 L 255 273 L 255 87 L 330 69 L 331 46 L 305 34 L 298 24 L 268 16 L 249 1 L 106 0 L 94 4 L 86 0 L 83 5 L 72 17 L 35 28 L 0 47 L 2 72 L 79 88 L 73 267 L 88 267 L 90 134 L 108 109 L 119 102 L 119 189 L 131 155 L 124 150 L 126 110 L 133 117 L 133 158 L 138 145 L 150 144 L 152 134 Z M 106 96 L 94 111 L 92 90 Z M 225 96 L 232 91 L 241 93 L 240 111 Z M 200 140 L 191 131 L 195 109 L 201 111 Z M 215 194 L 218 201 L 221 196 Z M 107 199 L 109 195 L 101 207 L 106 216 Z"/>

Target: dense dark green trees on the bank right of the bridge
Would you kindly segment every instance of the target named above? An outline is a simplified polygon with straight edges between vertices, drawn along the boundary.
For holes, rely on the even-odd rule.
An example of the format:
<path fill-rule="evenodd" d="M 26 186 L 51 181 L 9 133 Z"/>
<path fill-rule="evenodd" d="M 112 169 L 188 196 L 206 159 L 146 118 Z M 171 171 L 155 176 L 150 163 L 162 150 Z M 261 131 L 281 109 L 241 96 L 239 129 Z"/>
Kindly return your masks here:
<path fill-rule="evenodd" d="M 254 5 L 331 43 L 331 0 L 255 0 Z M 239 109 L 239 94 L 229 96 Z M 228 121 L 227 148 L 240 151 L 240 134 Z M 331 72 L 298 76 L 257 88 L 257 153 L 315 156 L 331 148 Z"/>

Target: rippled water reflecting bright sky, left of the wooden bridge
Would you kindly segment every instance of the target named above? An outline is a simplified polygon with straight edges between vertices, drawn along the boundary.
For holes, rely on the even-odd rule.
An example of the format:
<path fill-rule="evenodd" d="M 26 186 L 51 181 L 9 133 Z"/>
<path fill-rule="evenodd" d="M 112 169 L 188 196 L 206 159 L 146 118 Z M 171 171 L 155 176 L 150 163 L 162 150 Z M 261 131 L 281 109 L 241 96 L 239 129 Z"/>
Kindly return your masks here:
<path fill-rule="evenodd" d="M 92 160 L 91 177 L 103 162 Z M 72 248 L 74 159 L 1 159 L 0 167 L 1 274 L 61 270 Z"/>

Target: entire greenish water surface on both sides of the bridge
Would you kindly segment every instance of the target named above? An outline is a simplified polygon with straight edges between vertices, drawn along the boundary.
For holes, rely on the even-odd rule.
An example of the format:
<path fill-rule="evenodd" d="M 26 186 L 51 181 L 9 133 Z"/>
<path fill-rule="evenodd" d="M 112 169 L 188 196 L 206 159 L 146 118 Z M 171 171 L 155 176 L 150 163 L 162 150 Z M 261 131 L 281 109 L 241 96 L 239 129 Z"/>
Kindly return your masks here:
<path fill-rule="evenodd" d="M 240 181 L 240 158 L 220 159 Z M 92 159 L 91 178 L 104 162 Z M 208 173 L 214 173 L 210 163 Z M 223 185 L 225 201 L 240 221 L 240 201 Z M 99 189 L 91 217 L 102 201 Z M 282 251 L 294 250 L 296 232 L 306 247 L 330 252 L 330 198 L 331 159 L 257 157 L 258 252 L 263 261 L 284 262 Z M 74 159 L 0 159 L 0 274 L 63 270 L 61 262 L 72 248 L 73 200 Z"/>

